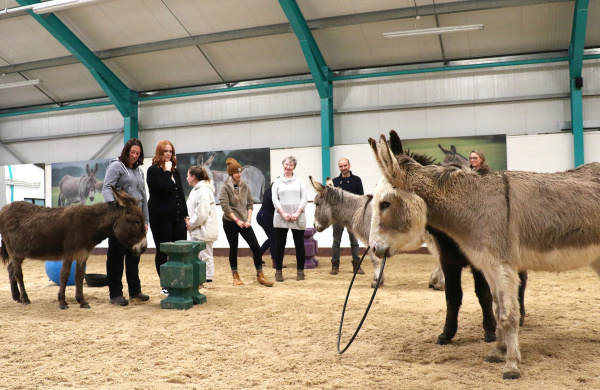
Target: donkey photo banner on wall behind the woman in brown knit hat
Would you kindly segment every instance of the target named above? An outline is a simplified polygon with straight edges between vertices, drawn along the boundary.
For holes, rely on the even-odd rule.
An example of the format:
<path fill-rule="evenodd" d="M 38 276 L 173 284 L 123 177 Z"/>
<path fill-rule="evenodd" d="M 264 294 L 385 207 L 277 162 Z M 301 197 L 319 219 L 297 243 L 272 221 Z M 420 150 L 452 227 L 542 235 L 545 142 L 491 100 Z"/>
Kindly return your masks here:
<path fill-rule="evenodd" d="M 265 186 L 271 184 L 271 157 L 269 148 L 210 151 L 201 153 L 177 153 L 177 170 L 183 183 L 187 183 L 187 170 L 193 165 L 203 167 L 215 185 L 217 204 L 221 185 L 227 180 L 228 158 L 234 158 L 242 166 L 242 180 L 248 183 L 255 203 L 261 203 Z M 184 185 L 185 196 L 192 187 Z"/>

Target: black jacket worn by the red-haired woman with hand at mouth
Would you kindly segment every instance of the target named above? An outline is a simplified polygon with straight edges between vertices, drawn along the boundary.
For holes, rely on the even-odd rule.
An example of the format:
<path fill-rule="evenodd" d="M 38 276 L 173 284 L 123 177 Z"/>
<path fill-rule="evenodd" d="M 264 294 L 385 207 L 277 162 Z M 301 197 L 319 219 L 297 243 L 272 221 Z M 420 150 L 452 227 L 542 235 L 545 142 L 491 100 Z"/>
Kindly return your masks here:
<path fill-rule="evenodd" d="M 157 165 L 151 165 L 146 174 L 150 199 L 148 214 L 152 221 L 182 221 L 188 216 L 181 176 L 177 168 L 168 172 Z M 173 182 L 172 178 L 175 178 Z"/>

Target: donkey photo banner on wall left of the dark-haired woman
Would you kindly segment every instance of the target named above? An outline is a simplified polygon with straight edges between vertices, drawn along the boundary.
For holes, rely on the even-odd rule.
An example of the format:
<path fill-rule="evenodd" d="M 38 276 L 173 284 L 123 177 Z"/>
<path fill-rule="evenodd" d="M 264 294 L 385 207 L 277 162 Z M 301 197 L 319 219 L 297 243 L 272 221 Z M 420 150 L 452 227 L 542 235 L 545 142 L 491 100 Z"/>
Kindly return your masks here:
<path fill-rule="evenodd" d="M 104 202 L 102 185 L 110 159 L 52 164 L 52 207 Z"/>

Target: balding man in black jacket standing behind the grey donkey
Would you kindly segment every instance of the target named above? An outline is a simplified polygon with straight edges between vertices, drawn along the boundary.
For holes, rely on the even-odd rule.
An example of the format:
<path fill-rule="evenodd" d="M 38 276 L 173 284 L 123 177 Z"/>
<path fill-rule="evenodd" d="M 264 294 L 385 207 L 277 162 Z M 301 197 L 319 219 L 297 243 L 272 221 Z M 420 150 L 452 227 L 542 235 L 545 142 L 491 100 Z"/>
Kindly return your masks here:
<path fill-rule="evenodd" d="M 350 161 L 348 161 L 347 158 L 342 158 L 340 161 L 338 161 L 338 167 L 340 169 L 340 175 L 333 179 L 333 186 L 340 187 L 345 191 L 352 192 L 353 194 L 364 195 L 360 177 L 353 175 L 352 171 L 350 171 Z M 340 242 L 342 241 L 343 232 L 344 227 L 342 225 L 333 225 L 333 245 L 331 247 L 330 272 L 332 275 L 337 275 L 340 270 Z M 348 236 L 350 237 L 353 270 L 356 271 L 356 268 L 358 267 L 358 273 L 364 275 L 365 271 L 358 266 L 358 263 L 360 262 L 360 256 L 358 254 L 358 241 L 350 230 L 348 230 Z"/>

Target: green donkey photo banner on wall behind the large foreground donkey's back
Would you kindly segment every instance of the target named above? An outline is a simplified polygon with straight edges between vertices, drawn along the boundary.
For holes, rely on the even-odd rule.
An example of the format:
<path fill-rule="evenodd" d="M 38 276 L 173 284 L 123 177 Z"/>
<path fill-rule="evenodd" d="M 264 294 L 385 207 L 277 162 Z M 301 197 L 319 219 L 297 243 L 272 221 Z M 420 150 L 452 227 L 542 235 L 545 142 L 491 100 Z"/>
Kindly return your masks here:
<path fill-rule="evenodd" d="M 469 165 L 469 154 L 480 150 L 494 171 L 506 170 L 506 134 L 402 140 L 404 149 L 435 158 L 436 163 Z"/>

